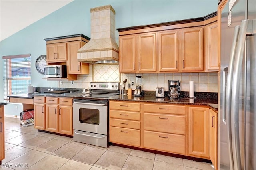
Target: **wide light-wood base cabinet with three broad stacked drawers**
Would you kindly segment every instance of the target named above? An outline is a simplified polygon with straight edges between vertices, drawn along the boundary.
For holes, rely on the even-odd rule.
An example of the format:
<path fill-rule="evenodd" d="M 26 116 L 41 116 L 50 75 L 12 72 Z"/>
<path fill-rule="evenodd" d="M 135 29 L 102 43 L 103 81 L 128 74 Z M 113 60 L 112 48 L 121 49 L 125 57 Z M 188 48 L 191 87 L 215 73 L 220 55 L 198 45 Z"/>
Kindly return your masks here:
<path fill-rule="evenodd" d="M 143 147 L 185 155 L 186 106 L 153 103 L 143 106 Z"/>

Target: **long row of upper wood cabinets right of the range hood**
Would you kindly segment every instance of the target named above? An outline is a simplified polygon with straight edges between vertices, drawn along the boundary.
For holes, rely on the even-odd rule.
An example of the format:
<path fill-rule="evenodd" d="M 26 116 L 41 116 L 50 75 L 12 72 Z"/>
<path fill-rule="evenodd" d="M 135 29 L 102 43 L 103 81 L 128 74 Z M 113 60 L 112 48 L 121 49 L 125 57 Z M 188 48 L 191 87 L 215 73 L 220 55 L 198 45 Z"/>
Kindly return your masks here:
<path fill-rule="evenodd" d="M 195 20 L 118 29 L 120 73 L 218 71 L 216 21 L 217 12 Z"/>

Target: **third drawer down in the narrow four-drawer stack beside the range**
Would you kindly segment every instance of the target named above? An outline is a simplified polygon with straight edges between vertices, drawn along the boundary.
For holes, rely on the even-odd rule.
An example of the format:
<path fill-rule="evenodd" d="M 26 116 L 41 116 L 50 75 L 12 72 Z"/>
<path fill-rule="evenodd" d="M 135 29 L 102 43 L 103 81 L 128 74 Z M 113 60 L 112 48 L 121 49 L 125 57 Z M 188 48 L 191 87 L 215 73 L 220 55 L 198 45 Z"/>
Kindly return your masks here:
<path fill-rule="evenodd" d="M 140 122 L 139 121 L 127 121 L 127 120 L 123 120 L 123 119 L 110 119 L 110 126 L 134 128 L 134 129 L 140 130 Z"/>

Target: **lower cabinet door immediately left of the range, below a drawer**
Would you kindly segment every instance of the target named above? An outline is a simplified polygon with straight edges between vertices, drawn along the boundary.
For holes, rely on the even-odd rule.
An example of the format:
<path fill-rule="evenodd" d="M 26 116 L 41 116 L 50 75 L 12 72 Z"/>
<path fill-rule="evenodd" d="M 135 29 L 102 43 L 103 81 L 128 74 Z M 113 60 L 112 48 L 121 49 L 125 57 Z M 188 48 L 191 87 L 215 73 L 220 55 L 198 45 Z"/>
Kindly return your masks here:
<path fill-rule="evenodd" d="M 59 132 L 73 134 L 73 107 L 61 106 L 59 108 Z"/>

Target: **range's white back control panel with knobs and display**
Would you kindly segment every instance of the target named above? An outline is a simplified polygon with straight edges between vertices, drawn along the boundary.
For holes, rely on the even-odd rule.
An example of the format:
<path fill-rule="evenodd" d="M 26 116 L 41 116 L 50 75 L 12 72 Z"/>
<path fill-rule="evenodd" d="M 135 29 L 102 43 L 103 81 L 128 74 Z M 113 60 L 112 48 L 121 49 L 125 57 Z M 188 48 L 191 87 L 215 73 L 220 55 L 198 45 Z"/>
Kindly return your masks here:
<path fill-rule="evenodd" d="M 119 90 L 119 82 L 91 82 L 90 89 Z"/>

